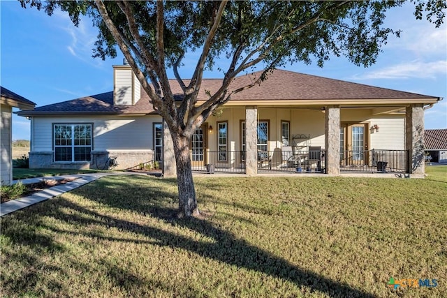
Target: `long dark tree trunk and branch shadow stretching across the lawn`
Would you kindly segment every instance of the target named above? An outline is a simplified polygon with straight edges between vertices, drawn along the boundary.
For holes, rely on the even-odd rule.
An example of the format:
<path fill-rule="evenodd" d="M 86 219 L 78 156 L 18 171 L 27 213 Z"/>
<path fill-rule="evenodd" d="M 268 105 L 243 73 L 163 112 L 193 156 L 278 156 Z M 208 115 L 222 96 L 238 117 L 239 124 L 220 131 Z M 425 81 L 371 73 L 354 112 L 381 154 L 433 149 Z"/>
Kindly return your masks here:
<path fill-rule="evenodd" d="M 163 183 L 175 184 L 175 180 L 163 181 Z M 163 192 L 161 189 L 156 188 L 156 186 L 149 186 L 149 192 L 152 191 L 159 192 L 159 195 L 157 195 L 158 198 L 167 198 L 166 200 L 169 200 L 170 202 L 177 200 L 177 195 L 175 193 Z M 219 260 L 220 262 L 226 262 L 228 265 L 256 270 L 270 276 L 291 281 L 298 285 L 298 288 L 306 286 L 312 290 L 330 295 L 331 297 L 374 297 L 374 295 L 370 293 L 351 288 L 345 283 L 332 281 L 330 278 L 326 278 L 321 274 L 316 274 L 312 271 L 296 267 L 290 262 L 278 258 L 268 251 L 263 251 L 243 239 L 236 239 L 232 233 L 216 228 L 206 219 L 177 219 L 173 216 L 177 212 L 174 204 L 168 204 L 168 206 L 166 206 L 161 202 L 161 204 L 152 204 L 152 206 L 147 208 L 147 205 L 143 206 L 142 204 L 138 204 L 138 202 L 128 202 L 130 204 L 123 204 L 119 200 L 110 200 L 103 195 L 98 195 L 98 193 L 90 193 L 88 199 L 108 204 L 110 207 L 133 209 L 133 211 L 143 213 L 148 212 L 150 216 L 159 218 L 166 223 L 189 228 L 190 230 L 203 234 L 205 237 L 214 239 L 212 243 L 204 243 L 182 235 L 166 232 L 159 228 L 96 214 L 94 211 L 87 210 L 75 204 L 71 204 L 70 206 L 70 208 L 77 209 L 82 213 L 90 214 L 94 216 L 94 218 L 100 217 L 104 224 L 118 228 L 119 230 L 144 234 L 147 237 L 156 239 L 157 245 L 182 248 L 197 253 L 198 255 L 202 255 L 204 258 L 212 258 L 214 260 Z M 128 198 L 128 200 L 133 199 Z M 150 199 L 148 198 L 147 200 Z"/>

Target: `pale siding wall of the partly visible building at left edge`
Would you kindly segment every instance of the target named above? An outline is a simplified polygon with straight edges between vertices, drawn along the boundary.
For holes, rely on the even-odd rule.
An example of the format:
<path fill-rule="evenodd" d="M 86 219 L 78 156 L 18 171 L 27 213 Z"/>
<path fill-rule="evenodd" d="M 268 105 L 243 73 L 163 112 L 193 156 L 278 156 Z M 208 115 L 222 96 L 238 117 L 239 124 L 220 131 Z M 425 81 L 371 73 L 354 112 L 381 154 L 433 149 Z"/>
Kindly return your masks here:
<path fill-rule="evenodd" d="M 0 107 L 0 181 L 1 185 L 8 185 L 13 179 L 12 151 L 11 151 L 11 112 L 8 105 Z"/>

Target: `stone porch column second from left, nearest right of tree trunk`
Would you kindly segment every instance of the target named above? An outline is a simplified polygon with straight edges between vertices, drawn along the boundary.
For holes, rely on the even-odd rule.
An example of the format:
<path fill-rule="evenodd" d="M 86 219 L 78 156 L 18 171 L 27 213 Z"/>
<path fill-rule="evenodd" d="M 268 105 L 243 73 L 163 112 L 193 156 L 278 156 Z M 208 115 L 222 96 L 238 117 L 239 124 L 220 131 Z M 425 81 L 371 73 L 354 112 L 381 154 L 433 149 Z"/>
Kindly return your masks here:
<path fill-rule="evenodd" d="M 258 174 L 258 107 L 245 107 L 245 174 Z"/>

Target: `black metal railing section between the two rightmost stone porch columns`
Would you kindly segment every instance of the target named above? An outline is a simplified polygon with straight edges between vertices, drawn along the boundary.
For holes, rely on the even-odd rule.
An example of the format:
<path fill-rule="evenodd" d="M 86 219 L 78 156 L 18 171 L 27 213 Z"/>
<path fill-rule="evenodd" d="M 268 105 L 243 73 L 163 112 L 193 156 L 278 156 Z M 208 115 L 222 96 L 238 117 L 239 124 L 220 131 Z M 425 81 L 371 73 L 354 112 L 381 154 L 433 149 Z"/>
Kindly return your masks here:
<path fill-rule="evenodd" d="M 346 150 L 340 154 L 343 172 L 408 172 L 407 150 Z"/>

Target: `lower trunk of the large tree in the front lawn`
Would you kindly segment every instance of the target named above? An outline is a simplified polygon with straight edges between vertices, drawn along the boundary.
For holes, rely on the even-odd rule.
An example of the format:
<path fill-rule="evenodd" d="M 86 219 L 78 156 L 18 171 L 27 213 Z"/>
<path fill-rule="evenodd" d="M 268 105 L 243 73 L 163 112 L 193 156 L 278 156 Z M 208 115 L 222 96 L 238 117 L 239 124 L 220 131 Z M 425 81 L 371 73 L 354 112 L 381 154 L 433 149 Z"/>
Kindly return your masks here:
<path fill-rule="evenodd" d="M 173 138 L 175 162 L 177 167 L 177 186 L 179 190 L 178 217 L 198 215 L 196 189 L 194 188 L 189 138 L 171 133 Z"/>

